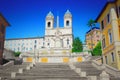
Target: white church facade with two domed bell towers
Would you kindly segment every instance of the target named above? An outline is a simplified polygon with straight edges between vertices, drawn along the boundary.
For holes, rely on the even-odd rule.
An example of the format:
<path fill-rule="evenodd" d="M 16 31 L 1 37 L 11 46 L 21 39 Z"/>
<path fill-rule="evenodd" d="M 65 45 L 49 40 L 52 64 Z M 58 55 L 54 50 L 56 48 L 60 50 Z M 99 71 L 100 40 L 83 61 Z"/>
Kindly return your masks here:
<path fill-rule="evenodd" d="M 64 15 L 64 27 L 59 27 L 59 17 L 57 16 L 57 26 L 54 28 L 54 16 L 51 12 L 46 16 L 45 47 L 53 49 L 72 48 L 72 15 L 67 10 Z"/>

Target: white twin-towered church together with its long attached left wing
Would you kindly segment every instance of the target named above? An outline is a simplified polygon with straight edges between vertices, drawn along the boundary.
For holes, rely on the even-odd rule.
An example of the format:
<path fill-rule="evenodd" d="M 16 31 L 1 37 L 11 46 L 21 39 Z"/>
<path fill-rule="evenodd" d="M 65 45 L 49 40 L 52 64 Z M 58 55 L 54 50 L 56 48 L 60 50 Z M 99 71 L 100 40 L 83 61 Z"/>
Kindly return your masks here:
<path fill-rule="evenodd" d="M 56 27 L 54 20 L 53 13 L 49 12 L 45 19 L 44 37 L 6 39 L 5 48 L 20 52 L 31 52 L 35 49 L 71 50 L 73 41 L 71 12 L 67 10 L 64 15 L 64 27 L 59 26 L 59 16 Z"/>

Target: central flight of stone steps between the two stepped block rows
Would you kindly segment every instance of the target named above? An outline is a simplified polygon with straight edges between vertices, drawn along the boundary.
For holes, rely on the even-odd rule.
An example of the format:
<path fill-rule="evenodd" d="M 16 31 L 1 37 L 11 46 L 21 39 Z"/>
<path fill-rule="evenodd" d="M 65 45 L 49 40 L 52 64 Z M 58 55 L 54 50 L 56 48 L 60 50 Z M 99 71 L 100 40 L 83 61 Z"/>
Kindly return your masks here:
<path fill-rule="evenodd" d="M 80 77 L 64 63 L 37 63 L 31 70 L 17 74 L 12 80 L 88 80 Z"/>

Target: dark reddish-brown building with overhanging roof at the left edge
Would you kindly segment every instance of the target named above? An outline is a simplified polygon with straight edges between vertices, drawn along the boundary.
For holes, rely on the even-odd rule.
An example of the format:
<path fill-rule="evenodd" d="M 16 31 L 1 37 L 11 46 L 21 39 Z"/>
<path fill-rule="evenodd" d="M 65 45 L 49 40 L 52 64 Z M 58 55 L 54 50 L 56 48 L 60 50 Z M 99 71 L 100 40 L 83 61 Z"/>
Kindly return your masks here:
<path fill-rule="evenodd" d="M 0 64 L 2 64 L 6 27 L 10 24 L 0 13 Z"/>

